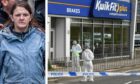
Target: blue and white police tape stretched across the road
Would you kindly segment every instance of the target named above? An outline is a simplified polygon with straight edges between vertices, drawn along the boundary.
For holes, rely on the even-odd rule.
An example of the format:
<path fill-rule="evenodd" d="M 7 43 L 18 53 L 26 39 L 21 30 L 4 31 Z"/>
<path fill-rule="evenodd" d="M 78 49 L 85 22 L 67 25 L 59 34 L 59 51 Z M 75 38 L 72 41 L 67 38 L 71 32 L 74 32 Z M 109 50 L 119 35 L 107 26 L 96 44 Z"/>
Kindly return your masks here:
<path fill-rule="evenodd" d="M 48 77 L 76 77 L 76 76 L 140 76 L 140 73 L 127 72 L 48 72 Z"/>

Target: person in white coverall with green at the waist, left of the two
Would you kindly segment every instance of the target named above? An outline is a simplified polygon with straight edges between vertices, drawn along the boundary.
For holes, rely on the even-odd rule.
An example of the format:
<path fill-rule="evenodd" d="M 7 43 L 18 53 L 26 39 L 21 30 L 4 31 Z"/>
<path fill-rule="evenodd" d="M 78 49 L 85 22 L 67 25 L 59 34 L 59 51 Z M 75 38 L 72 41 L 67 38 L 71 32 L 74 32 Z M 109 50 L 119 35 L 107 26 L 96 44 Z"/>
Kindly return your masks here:
<path fill-rule="evenodd" d="M 82 52 L 81 46 L 79 44 L 77 44 L 76 41 L 73 42 L 74 45 L 72 45 L 72 71 L 76 71 L 79 72 L 81 71 L 81 67 L 80 67 L 80 55 L 79 53 Z"/>

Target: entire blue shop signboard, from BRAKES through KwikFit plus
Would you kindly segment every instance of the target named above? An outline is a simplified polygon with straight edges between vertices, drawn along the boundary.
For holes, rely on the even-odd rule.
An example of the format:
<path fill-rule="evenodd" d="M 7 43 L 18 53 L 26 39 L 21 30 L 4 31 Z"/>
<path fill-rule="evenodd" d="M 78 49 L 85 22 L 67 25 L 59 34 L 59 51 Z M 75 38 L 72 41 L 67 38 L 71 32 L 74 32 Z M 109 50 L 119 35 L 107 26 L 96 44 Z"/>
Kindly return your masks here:
<path fill-rule="evenodd" d="M 49 0 L 48 13 L 130 20 L 131 3 L 126 0 Z"/>

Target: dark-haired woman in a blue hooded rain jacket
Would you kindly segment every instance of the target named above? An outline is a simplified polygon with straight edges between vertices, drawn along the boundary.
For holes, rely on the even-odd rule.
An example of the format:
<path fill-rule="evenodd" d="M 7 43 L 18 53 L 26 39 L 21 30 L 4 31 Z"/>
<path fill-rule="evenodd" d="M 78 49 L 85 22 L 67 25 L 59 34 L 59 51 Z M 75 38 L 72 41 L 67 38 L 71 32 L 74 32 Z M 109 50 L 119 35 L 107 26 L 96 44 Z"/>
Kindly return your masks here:
<path fill-rule="evenodd" d="M 32 26 L 27 2 L 11 10 L 13 25 L 0 31 L 0 84 L 45 84 L 44 33 Z"/>

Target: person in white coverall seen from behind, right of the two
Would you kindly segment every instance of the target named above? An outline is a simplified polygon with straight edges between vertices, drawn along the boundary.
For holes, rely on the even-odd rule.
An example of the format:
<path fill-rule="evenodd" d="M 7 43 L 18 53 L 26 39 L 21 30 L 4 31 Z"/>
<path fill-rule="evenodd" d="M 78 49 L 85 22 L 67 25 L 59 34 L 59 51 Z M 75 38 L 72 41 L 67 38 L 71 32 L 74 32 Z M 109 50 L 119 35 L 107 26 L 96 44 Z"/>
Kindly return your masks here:
<path fill-rule="evenodd" d="M 93 72 L 93 63 L 92 60 L 94 59 L 93 52 L 86 48 L 82 53 L 82 59 L 83 59 L 83 70 L 84 72 Z M 88 77 L 84 76 L 84 80 L 87 81 Z M 89 81 L 93 81 L 93 76 L 89 76 Z"/>

